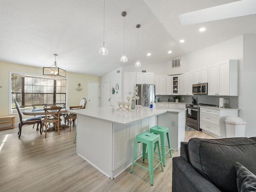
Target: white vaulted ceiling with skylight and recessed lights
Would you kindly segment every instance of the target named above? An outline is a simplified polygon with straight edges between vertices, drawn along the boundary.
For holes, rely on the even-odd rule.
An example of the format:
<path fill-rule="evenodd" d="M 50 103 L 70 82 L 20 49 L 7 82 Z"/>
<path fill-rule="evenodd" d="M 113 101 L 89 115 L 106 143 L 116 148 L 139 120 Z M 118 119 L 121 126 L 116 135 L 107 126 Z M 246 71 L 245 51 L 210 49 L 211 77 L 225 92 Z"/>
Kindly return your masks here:
<path fill-rule="evenodd" d="M 249 15 L 240 13 L 241 4 L 234 4 L 244 1 L 250 3 L 250 10 L 248 6 L 244 8 Z M 230 3 L 235 8 L 219 9 Z M 216 10 L 207 9 L 212 7 Z M 206 13 L 196 12 L 202 9 L 207 9 Z M 127 12 L 125 31 L 123 11 Z M 53 54 L 58 54 L 60 68 L 102 76 L 121 66 L 134 66 L 138 55 L 146 67 L 242 34 L 255 34 L 255 11 L 256 0 L 105 0 L 105 43 L 109 54 L 102 56 L 103 0 L 1 0 L 0 61 L 41 68 L 51 66 Z M 187 16 L 197 21 L 182 25 L 179 16 L 188 12 L 198 14 L 198 18 Z M 227 14 L 224 19 L 202 20 L 209 15 L 223 17 L 223 12 Z M 137 24 L 141 25 L 139 51 Z M 201 27 L 206 31 L 199 32 Z M 180 43 L 180 39 L 185 42 Z M 127 63 L 120 62 L 123 51 Z"/>

